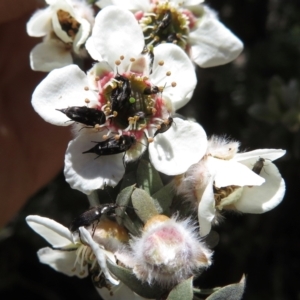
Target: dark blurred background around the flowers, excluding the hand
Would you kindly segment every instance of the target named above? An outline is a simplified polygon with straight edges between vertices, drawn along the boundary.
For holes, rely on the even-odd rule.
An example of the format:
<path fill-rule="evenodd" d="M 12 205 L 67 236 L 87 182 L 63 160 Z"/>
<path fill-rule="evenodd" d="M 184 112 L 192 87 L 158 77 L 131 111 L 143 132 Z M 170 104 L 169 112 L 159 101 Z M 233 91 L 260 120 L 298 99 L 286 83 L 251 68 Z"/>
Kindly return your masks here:
<path fill-rule="evenodd" d="M 198 68 L 194 97 L 180 112 L 194 117 L 208 135 L 241 141 L 244 150 L 286 149 L 276 165 L 287 192 L 266 214 L 226 215 L 215 228 L 220 242 L 214 264 L 197 284 L 227 285 L 245 273 L 245 300 L 300 299 L 300 1 L 206 3 L 244 42 L 245 50 L 234 63 Z M 68 226 L 87 208 L 86 197 L 72 190 L 62 174 L 28 200 L 1 231 L 1 299 L 99 299 L 89 279 L 69 278 L 38 262 L 36 251 L 46 242 L 24 221 L 38 214 Z"/>

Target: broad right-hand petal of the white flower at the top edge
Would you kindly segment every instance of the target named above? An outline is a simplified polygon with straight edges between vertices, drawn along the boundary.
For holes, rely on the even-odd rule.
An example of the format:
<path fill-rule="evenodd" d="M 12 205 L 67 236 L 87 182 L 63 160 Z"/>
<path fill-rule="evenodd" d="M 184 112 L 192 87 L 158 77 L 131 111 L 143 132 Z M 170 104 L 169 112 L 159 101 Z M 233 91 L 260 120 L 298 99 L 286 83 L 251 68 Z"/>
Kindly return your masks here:
<path fill-rule="evenodd" d="M 205 10 L 198 28 L 189 35 L 192 60 L 203 68 L 224 65 L 238 57 L 243 43 Z"/>

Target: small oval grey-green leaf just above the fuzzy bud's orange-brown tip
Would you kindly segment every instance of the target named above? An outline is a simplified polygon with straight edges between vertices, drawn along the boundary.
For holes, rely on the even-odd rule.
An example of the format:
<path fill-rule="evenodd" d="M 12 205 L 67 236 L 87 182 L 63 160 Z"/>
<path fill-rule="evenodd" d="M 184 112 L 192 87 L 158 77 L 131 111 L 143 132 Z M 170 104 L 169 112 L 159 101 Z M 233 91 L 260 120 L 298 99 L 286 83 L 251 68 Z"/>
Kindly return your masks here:
<path fill-rule="evenodd" d="M 151 217 L 158 215 L 153 199 L 142 189 L 135 189 L 131 196 L 136 214 L 146 223 Z"/>

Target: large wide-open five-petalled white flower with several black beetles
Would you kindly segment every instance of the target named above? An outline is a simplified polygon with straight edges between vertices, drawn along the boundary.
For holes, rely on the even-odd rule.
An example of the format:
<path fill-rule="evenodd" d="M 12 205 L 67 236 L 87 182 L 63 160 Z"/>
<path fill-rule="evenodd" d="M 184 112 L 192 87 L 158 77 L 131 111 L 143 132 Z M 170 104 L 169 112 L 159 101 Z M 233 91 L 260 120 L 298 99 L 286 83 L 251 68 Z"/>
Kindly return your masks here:
<path fill-rule="evenodd" d="M 105 61 L 97 63 L 88 76 L 74 65 L 54 70 L 33 93 L 34 109 L 55 125 L 74 123 L 58 109 L 88 106 L 103 112 L 106 121 L 96 128 L 75 127 L 77 137 L 65 156 L 66 180 L 86 194 L 105 184 L 115 186 L 124 174 L 124 161 L 137 159 L 148 141 L 151 162 L 168 175 L 185 172 L 205 154 L 203 128 L 171 118 L 190 100 L 196 86 L 192 63 L 179 47 L 164 44 L 154 49 L 151 64 L 148 55 L 140 54 L 143 44 L 141 28 L 130 12 L 105 8 L 90 38 L 90 45 Z M 92 149 L 97 147 L 92 141 L 102 141 L 106 147 L 106 141 L 117 144 L 114 138 L 122 142 L 123 151 L 121 146 L 115 148 L 121 153 L 103 155 Z M 83 154 L 90 149 L 92 153 Z"/>

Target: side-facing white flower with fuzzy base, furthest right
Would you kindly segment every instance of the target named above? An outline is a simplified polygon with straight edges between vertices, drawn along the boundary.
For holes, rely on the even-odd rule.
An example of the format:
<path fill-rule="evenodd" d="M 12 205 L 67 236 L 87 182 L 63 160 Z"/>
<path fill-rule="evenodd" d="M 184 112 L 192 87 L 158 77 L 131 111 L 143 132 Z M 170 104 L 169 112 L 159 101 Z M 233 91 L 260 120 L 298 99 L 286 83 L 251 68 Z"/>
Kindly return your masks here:
<path fill-rule="evenodd" d="M 272 161 L 284 150 L 237 153 L 238 142 L 218 137 L 208 145 L 206 156 L 174 180 L 177 192 L 198 205 L 201 236 L 223 209 L 260 214 L 282 201 L 285 184 Z"/>

